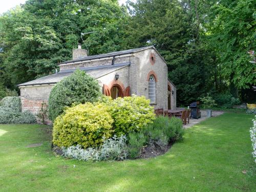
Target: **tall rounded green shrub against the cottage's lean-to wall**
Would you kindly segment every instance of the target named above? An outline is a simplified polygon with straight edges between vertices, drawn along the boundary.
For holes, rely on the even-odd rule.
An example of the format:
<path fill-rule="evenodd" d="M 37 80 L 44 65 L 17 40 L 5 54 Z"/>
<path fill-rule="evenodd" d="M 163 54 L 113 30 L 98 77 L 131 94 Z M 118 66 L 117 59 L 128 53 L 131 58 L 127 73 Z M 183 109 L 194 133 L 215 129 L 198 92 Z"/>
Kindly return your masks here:
<path fill-rule="evenodd" d="M 53 87 L 48 103 L 49 118 L 54 120 L 72 103 L 94 102 L 100 95 L 98 81 L 86 72 L 76 70 Z"/>

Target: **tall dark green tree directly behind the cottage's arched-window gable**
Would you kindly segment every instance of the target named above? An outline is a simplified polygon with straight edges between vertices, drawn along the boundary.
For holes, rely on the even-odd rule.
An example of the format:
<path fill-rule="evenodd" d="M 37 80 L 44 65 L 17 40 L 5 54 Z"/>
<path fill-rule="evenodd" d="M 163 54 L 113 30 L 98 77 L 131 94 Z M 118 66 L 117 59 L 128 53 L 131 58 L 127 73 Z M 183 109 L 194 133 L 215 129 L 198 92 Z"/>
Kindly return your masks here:
<path fill-rule="evenodd" d="M 178 104 L 195 101 L 212 89 L 206 83 L 212 82 L 211 52 L 199 38 L 197 22 L 187 4 L 140 0 L 129 5 L 132 16 L 126 46 L 156 47 L 167 62 L 169 79 L 176 84 Z"/>

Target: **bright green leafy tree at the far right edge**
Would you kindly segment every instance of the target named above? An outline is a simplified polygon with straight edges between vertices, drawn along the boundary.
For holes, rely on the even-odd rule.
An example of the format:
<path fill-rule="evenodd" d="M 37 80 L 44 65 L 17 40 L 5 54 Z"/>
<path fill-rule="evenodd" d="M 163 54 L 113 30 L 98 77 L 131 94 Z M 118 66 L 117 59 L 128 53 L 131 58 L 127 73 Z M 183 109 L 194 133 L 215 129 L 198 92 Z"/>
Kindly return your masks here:
<path fill-rule="evenodd" d="M 210 45 L 215 48 L 223 76 L 229 80 L 230 91 L 238 96 L 237 89 L 255 84 L 247 52 L 255 48 L 255 1 L 220 1 L 211 7 Z"/>

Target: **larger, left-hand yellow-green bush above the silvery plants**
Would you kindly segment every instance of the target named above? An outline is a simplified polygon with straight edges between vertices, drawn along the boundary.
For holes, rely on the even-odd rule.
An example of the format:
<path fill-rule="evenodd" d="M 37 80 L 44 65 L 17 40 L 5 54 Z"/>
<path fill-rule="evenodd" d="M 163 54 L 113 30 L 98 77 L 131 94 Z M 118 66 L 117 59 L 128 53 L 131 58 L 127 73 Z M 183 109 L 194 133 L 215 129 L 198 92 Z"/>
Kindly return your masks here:
<path fill-rule="evenodd" d="M 53 143 L 69 147 L 81 145 L 84 148 L 98 146 L 103 137 L 113 134 L 113 119 L 104 103 L 85 103 L 72 106 L 58 116 L 53 125 Z"/>

